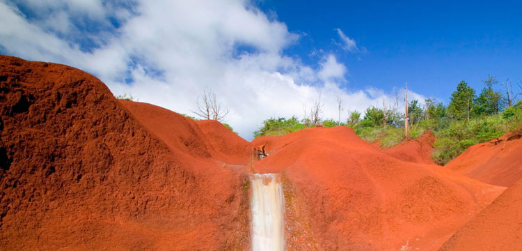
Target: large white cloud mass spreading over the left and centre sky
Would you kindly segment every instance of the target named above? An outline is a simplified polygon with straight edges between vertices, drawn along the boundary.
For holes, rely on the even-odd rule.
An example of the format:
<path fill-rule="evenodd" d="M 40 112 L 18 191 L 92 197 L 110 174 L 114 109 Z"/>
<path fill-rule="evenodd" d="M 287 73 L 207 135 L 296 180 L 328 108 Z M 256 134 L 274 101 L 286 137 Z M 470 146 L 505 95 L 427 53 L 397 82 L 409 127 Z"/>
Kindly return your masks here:
<path fill-rule="evenodd" d="M 248 1 L 0 0 L 0 24 L 7 54 L 81 68 L 115 94 L 192 114 L 198 95 L 212 89 L 246 139 L 271 116 L 302 117 L 319 93 L 325 118 L 337 118 L 338 95 L 360 112 L 394 98 L 345 89 L 347 67 L 335 54 L 316 65 L 284 54 L 299 34 Z"/>

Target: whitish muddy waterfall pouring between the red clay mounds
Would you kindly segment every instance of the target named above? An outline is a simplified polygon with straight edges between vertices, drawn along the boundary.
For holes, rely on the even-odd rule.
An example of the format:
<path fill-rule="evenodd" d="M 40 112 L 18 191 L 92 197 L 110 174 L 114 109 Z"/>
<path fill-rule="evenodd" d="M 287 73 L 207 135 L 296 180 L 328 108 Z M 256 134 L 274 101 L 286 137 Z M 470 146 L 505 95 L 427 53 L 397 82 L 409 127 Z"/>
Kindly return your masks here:
<path fill-rule="evenodd" d="M 253 195 L 252 250 L 285 250 L 285 197 L 283 185 L 277 174 L 253 174 L 250 176 Z"/>

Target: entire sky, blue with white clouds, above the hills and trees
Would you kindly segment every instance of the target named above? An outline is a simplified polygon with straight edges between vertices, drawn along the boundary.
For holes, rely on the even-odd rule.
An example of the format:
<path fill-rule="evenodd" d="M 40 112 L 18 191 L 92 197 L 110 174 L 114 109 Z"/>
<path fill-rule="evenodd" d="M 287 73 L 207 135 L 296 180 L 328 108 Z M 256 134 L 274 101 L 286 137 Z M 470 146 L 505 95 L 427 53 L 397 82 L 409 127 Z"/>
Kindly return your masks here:
<path fill-rule="evenodd" d="M 522 79 L 522 4 L 482 1 L 0 0 L 0 53 L 65 63 L 115 94 L 193 115 L 205 90 L 245 139 L 264 119 L 323 118 L 458 82 Z M 498 86 L 500 88 L 500 86 Z"/>

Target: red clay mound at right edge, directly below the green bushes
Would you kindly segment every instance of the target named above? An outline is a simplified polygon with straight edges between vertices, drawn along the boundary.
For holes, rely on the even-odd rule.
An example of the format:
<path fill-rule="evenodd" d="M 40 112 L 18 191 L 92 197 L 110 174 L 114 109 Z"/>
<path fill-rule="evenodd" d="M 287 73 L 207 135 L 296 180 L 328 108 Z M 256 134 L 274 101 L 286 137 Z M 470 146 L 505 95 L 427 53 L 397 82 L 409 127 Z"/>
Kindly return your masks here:
<path fill-rule="evenodd" d="M 477 181 L 509 186 L 522 178 L 522 131 L 471 146 L 445 167 Z"/>

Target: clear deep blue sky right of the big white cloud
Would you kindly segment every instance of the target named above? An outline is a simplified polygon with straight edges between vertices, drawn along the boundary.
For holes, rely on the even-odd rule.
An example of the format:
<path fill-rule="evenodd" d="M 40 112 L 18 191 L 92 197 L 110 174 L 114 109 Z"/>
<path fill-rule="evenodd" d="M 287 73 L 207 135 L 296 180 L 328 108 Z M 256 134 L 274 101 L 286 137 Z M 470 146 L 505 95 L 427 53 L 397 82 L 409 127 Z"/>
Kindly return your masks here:
<path fill-rule="evenodd" d="M 260 1 L 290 31 L 306 33 L 290 54 L 331 50 L 349 68 L 348 86 L 390 89 L 409 82 L 448 102 L 457 83 L 482 89 L 488 74 L 522 79 L 521 1 Z M 366 52 L 342 53 L 340 28 Z"/>

